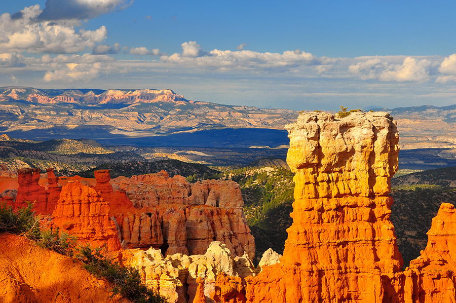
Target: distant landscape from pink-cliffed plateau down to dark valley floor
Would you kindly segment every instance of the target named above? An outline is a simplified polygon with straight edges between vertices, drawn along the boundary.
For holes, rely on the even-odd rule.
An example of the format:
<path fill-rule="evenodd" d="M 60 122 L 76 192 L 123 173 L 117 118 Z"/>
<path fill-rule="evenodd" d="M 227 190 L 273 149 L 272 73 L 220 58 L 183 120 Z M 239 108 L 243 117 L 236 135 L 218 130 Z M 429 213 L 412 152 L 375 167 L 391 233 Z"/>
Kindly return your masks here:
<path fill-rule="evenodd" d="M 400 169 L 456 166 L 456 105 L 375 110 L 390 112 L 398 123 Z M 85 168 L 89 163 L 93 167 L 166 159 L 208 165 L 284 159 L 289 143 L 284 125 L 298 115 L 288 109 L 191 101 L 169 89 L 0 88 L 0 134 L 43 142 L 79 140 L 78 144 L 84 138 L 94 147 L 80 155 L 45 152 L 40 143 L 33 145 L 32 156 Z M 69 142 L 54 141 L 59 148 L 74 148 Z M 71 146 L 62 147 L 64 143 Z M 14 151 L 11 148 L 18 145 L 8 149 L 8 144 L 12 143 L 3 143 L 2 158 L 31 157 L 25 147 Z M 96 148 L 111 154 L 98 154 Z"/>

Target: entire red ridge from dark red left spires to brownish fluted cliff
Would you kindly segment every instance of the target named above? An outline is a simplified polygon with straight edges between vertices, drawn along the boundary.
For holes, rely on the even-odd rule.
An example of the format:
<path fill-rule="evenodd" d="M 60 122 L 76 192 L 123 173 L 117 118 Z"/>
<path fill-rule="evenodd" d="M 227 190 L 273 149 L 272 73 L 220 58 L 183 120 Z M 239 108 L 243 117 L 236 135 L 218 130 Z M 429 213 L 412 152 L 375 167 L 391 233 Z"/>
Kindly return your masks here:
<path fill-rule="evenodd" d="M 9 196 L 2 201 L 15 207 L 36 201 L 34 210 L 52 214 L 58 228 L 111 250 L 122 243 L 124 248 L 154 247 L 165 255 L 204 254 L 212 241 L 220 241 L 234 255 L 254 256 L 240 187 L 233 181 L 190 184 L 165 171 L 110 180 L 109 170 L 98 170 L 90 187 L 80 177 L 59 180 L 53 169 L 47 173 L 47 185 L 41 186 L 39 169 L 18 170 L 16 202 Z"/>

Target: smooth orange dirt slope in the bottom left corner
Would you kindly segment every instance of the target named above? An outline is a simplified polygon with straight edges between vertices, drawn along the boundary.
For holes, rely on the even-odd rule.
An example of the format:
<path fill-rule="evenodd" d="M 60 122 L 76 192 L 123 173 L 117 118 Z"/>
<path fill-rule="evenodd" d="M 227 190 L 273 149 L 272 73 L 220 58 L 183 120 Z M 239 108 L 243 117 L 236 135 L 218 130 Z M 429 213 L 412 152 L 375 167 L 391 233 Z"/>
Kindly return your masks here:
<path fill-rule="evenodd" d="M 78 261 L 37 247 L 25 237 L 0 234 L 0 302 L 129 302 L 110 298 L 109 288 Z"/>

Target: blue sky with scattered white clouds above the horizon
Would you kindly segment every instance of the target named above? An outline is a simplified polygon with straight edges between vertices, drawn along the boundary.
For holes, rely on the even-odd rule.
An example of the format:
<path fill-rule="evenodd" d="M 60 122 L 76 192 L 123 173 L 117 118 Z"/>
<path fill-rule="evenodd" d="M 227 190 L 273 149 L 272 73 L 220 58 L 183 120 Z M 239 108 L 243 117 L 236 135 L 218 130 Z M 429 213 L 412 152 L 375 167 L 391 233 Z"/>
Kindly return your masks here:
<path fill-rule="evenodd" d="M 416 0 L 17 0 L 0 7 L 0 86 L 169 88 L 296 110 L 450 105 L 455 12 Z"/>

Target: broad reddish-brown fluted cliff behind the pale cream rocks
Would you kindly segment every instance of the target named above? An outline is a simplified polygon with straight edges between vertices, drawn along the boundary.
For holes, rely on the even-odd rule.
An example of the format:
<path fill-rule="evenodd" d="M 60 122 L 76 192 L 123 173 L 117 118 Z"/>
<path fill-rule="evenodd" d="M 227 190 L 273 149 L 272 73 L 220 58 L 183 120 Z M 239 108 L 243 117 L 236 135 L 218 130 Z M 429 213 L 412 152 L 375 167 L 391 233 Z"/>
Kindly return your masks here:
<path fill-rule="evenodd" d="M 119 177 L 112 184 L 114 194 L 122 189 L 134 206 L 122 212 L 111 210 L 126 246 L 152 246 L 165 255 L 204 254 L 212 241 L 220 241 L 233 254 L 242 256 L 247 251 L 250 258 L 254 256 L 254 239 L 237 183 L 204 180 L 190 184 L 181 176 L 170 178 L 162 171 Z M 101 195 L 106 201 L 116 200 L 102 191 Z"/>

